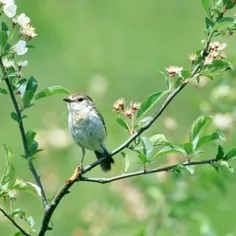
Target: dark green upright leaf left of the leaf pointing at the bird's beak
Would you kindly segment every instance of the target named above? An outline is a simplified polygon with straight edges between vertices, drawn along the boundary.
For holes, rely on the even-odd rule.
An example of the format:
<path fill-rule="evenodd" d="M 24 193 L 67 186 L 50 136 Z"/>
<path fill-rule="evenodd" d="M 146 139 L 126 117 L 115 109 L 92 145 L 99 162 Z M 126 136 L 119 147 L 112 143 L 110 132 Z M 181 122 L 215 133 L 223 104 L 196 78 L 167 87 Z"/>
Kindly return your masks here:
<path fill-rule="evenodd" d="M 38 88 L 37 80 L 31 76 L 26 84 L 25 92 L 23 95 L 23 104 L 28 107 L 34 101 L 34 94 Z"/>

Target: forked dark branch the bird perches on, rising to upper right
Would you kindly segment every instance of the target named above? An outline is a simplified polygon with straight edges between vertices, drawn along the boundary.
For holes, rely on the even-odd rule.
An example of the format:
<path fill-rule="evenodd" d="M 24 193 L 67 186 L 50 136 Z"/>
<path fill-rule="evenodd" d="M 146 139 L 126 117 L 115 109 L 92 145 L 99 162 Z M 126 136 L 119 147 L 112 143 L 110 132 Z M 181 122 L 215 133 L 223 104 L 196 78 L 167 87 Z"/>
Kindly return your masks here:
<path fill-rule="evenodd" d="M 224 13 L 223 13 L 224 14 Z M 220 17 L 218 17 L 215 21 L 215 23 L 223 17 L 223 14 L 221 14 Z M 118 148 L 116 148 L 115 150 L 113 150 L 110 155 L 114 156 L 117 153 L 119 153 L 120 151 L 122 151 L 123 149 L 129 147 L 129 145 L 137 138 L 139 137 L 145 130 L 149 129 L 151 127 L 151 125 L 157 120 L 158 117 L 160 117 L 160 115 L 165 111 L 165 109 L 167 108 L 167 106 L 169 105 L 169 103 L 176 97 L 176 95 L 189 83 L 190 79 L 192 79 L 193 77 L 195 77 L 197 75 L 197 73 L 199 72 L 199 69 L 201 68 L 201 63 L 205 60 L 205 58 L 208 55 L 208 49 L 209 49 L 209 44 L 210 41 L 212 39 L 213 33 L 209 34 L 205 43 L 205 46 L 203 48 L 202 51 L 202 55 L 200 58 L 199 63 L 193 68 L 191 76 L 186 79 L 178 88 L 176 88 L 174 91 L 172 91 L 169 96 L 166 98 L 166 100 L 164 101 L 164 103 L 162 104 L 162 106 L 160 107 L 160 109 L 154 114 L 154 116 L 152 117 L 152 119 L 145 124 L 143 127 L 141 127 L 135 134 L 133 134 L 127 141 L 125 141 L 123 144 L 121 144 Z M 87 172 L 89 172 L 91 169 L 95 168 L 97 165 L 99 165 L 104 159 L 101 158 L 95 162 L 93 162 L 92 164 L 90 164 L 89 166 L 87 166 L 79 175 L 78 179 L 74 179 L 71 182 L 66 182 L 62 188 L 58 191 L 58 193 L 56 194 L 56 196 L 53 198 L 53 200 L 51 201 L 51 203 L 48 206 L 48 209 L 45 211 L 44 217 L 43 217 L 43 221 L 41 224 L 41 227 L 39 229 L 38 232 L 38 236 L 44 236 L 46 231 L 49 230 L 50 228 L 48 227 L 48 224 L 50 222 L 50 219 L 55 211 L 55 209 L 57 208 L 58 204 L 60 203 L 60 201 L 62 200 L 62 198 L 69 193 L 69 189 L 70 187 L 77 181 L 88 181 L 88 182 L 96 182 L 96 183 L 109 183 L 118 179 L 124 179 L 124 178 L 129 178 L 129 177 L 133 177 L 133 176 L 138 176 L 138 175 L 144 175 L 144 174 L 150 174 L 150 173 L 154 173 L 154 172 L 160 172 L 160 171 L 168 171 L 171 168 L 174 168 L 176 165 L 174 166 L 168 166 L 168 167 L 163 167 L 163 168 L 159 168 L 159 169 L 153 169 L 153 170 L 149 170 L 149 171 L 138 171 L 138 172 L 134 172 L 134 173 L 129 173 L 126 175 L 122 175 L 122 176 L 116 176 L 116 177 L 112 177 L 112 178 L 108 178 L 108 179 L 96 179 L 96 178 L 86 178 L 83 175 Z M 199 162 L 190 162 L 190 163 L 186 163 L 185 165 L 200 165 L 200 164 L 210 164 L 212 161 L 214 161 L 215 159 L 209 159 L 209 160 L 205 160 L 205 161 L 199 161 Z"/>

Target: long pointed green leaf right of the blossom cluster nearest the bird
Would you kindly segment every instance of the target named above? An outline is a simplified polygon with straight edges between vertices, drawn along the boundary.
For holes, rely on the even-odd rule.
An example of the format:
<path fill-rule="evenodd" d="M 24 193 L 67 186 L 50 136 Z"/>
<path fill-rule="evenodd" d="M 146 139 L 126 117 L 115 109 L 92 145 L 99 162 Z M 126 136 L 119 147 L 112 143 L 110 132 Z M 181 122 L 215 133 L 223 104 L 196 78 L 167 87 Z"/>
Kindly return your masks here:
<path fill-rule="evenodd" d="M 168 91 L 162 91 L 151 94 L 140 106 L 136 113 L 137 119 L 148 112 Z"/>

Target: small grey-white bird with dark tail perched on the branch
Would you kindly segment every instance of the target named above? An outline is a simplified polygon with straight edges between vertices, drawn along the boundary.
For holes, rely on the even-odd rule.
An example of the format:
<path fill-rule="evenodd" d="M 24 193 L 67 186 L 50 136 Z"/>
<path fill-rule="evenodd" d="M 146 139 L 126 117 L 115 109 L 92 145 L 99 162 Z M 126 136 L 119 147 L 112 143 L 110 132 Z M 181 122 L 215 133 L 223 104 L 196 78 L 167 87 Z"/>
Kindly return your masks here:
<path fill-rule="evenodd" d="M 85 150 L 95 153 L 97 159 L 106 157 L 101 163 L 104 172 L 111 170 L 113 158 L 106 148 L 107 130 L 101 113 L 95 103 L 86 94 L 75 93 L 63 99 L 67 102 L 68 127 L 74 141 L 82 149 L 81 166 L 85 157 Z"/>

